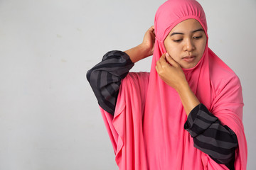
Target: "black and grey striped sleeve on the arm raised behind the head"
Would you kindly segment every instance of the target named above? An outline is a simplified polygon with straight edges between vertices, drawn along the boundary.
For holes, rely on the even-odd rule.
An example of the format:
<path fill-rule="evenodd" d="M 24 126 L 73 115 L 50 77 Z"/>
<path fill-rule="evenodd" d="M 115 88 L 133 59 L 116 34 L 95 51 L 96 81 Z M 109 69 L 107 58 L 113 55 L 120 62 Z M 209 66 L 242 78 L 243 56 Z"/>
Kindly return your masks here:
<path fill-rule="evenodd" d="M 86 74 L 100 107 L 112 115 L 114 115 L 121 80 L 127 76 L 133 66 L 134 63 L 129 55 L 114 50 L 107 52 L 102 61 Z"/>

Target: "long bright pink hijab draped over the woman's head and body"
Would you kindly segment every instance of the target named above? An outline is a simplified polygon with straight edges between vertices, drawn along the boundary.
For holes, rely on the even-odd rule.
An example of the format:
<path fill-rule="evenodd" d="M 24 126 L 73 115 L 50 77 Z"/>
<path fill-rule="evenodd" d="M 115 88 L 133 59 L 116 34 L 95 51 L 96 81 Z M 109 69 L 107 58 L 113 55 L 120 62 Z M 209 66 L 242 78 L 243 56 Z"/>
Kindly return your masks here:
<path fill-rule="evenodd" d="M 208 38 L 206 16 L 197 1 L 169 0 L 159 7 L 150 74 L 129 73 L 122 80 L 114 118 L 101 109 L 119 169 L 228 169 L 193 146 L 193 138 L 184 130 L 187 115 L 181 99 L 155 69 L 156 61 L 166 52 L 166 35 L 188 18 L 199 21 Z M 235 169 L 246 169 L 240 80 L 208 43 L 198 64 L 183 72 L 198 100 L 237 135 Z"/>

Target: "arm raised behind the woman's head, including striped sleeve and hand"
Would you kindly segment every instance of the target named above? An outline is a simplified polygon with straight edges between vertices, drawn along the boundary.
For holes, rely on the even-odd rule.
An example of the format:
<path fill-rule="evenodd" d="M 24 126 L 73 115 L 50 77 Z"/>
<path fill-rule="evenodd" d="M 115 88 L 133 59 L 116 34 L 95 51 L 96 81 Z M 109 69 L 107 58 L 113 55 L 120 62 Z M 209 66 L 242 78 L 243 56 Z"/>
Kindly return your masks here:
<path fill-rule="evenodd" d="M 107 52 L 102 61 L 87 72 L 87 80 L 99 105 L 108 113 L 114 115 L 121 80 L 127 76 L 134 62 L 153 54 L 154 38 L 154 26 L 151 26 L 141 44 L 124 52 Z"/>

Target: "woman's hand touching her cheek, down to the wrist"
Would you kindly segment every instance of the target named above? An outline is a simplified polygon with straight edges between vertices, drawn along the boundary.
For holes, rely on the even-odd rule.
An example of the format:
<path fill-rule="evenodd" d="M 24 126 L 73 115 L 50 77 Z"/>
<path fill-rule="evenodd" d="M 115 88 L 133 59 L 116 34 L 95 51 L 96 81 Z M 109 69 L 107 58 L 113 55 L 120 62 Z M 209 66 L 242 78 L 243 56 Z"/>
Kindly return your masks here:
<path fill-rule="evenodd" d="M 180 91 L 184 85 L 188 84 L 180 64 L 167 52 L 156 62 L 156 72 L 166 84 L 176 89 L 176 91 Z"/>

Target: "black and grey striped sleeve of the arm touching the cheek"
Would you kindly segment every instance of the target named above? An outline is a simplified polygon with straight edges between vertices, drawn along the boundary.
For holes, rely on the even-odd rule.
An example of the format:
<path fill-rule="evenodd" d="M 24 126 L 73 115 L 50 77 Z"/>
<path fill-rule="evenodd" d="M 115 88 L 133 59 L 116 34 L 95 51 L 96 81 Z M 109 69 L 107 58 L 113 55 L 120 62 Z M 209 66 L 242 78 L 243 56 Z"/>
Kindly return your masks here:
<path fill-rule="evenodd" d="M 202 103 L 193 108 L 184 128 L 193 137 L 194 147 L 208 154 L 218 164 L 234 169 L 238 139 L 235 132 L 222 125 Z"/>

